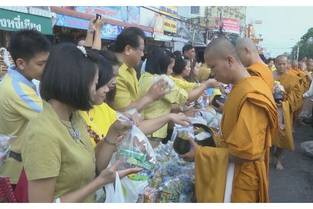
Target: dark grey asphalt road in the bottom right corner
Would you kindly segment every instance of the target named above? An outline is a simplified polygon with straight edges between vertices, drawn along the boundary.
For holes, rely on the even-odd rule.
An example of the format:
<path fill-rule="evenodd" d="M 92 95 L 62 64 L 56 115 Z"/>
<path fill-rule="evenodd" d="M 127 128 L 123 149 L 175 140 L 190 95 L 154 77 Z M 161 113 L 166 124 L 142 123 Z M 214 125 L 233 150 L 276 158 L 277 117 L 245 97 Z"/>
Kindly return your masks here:
<path fill-rule="evenodd" d="M 270 164 L 270 202 L 313 202 L 313 157 L 305 155 L 300 144 L 313 140 L 310 126 L 296 124 L 295 151 L 285 151 L 284 170 Z"/>

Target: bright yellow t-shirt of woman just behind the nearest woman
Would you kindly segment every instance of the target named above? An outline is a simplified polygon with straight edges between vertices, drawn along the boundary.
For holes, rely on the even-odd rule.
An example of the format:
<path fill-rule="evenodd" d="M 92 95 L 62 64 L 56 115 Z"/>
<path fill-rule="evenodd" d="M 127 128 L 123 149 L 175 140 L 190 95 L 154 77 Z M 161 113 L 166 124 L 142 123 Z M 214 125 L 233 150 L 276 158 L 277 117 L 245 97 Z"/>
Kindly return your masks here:
<path fill-rule="evenodd" d="M 81 113 L 88 126 L 90 126 L 100 138 L 102 138 L 102 135 L 106 136 L 108 134 L 110 126 L 118 118 L 116 116 L 116 111 L 109 107 L 106 103 L 93 106 L 93 108 L 89 110 L 88 114 L 86 111 L 81 111 Z M 90 139 L 93 147 L 95 147 L 96 143 L 94 139 Z"/>

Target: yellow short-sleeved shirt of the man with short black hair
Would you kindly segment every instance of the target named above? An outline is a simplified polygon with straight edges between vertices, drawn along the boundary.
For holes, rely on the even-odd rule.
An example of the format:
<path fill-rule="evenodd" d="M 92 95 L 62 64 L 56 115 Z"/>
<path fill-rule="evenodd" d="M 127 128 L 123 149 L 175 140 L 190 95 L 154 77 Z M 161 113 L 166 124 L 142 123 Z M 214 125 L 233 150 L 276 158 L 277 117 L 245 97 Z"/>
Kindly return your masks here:
<path fill-rule="evenodd" d="M 121 63 L 116 81 L 115 110 L 127 107 L 131 102 L 139 99 L 138 79 L 136 70 L 133 67 L 129 68 L 126 64 Z"/>

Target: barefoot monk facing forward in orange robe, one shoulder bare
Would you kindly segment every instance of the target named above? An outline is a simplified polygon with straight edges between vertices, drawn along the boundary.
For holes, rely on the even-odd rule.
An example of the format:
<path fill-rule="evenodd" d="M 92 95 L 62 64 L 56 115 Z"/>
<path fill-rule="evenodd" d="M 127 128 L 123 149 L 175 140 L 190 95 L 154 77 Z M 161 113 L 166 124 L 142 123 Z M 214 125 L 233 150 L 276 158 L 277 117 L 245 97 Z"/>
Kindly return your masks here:
<path fill-rule="evenodd" d="M 277 146 L 276 169 L 283 170 L 283 150 L 294 151 L 292 137 L 292 120 L 294 112 L 302 105 L 301 78 L 287 70 L 288 58 L 280 55 L 275 59 L 276 70 L 274 79 L 279 81 L 285 89 L 284 101 L 277 104 L 279 110 L 279 129 L 273 138 L 273 145 Z"/>

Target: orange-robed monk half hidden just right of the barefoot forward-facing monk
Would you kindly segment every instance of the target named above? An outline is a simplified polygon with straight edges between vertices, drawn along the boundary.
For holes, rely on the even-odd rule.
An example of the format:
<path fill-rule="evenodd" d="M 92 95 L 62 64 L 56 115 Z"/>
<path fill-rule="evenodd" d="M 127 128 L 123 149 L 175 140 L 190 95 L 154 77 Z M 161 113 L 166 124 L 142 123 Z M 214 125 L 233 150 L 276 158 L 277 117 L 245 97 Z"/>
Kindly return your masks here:
<path fill-rule="evenodd" d="M 307 74 L 303 71 L 301 71 L 299 68 L 298 68 L 298 61 L 296 60 L 292 60 L 291 61 L 291 69 L 290 69 L 290 72 L 294 73 L 295 75 L 297 75 L 298 77 L 301 78 L 300 80 L 300 84 L 301 84 L 301 94 L 303 95 L 309 88 L 308 86 L 308 82 L 307 82 Z M 302 98 L 301 98 L 302 99 Z M 292 133 L 294 133 L 294 124 L 297 120 L 297 118 L 299 117 L 299 114 L 301 113 L 302 111 L 302 106 L 303 106 L 303 99 L 302 99 L 302 104 L 301 104 L 301 107 L 299 109 L 297 109 L 295 112 L 294 112 L 294 116 L 293 116 L 293 127 L 292 127 Z M 301 121 L 301 120 L 298 120 L 298 121 Z"/>

